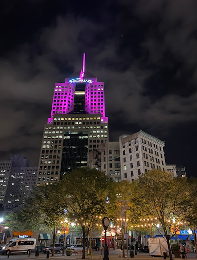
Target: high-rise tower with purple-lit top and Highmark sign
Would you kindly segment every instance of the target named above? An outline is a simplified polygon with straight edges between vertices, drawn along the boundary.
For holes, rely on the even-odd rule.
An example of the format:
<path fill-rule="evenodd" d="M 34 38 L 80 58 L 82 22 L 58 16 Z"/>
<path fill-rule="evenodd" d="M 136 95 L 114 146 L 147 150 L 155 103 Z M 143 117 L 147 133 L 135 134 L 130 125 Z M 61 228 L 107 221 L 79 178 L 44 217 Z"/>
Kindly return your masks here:
<path fill-rule="evenodd" d="M 77 78 L 78 76 L 78 78 Z M 61 179 L 74 168 L 88 165 L 88 152 L 108 141 L 104 82 L 85 69 L 56 83 L 51 117 L 45 125 L 37 185 Z"/>

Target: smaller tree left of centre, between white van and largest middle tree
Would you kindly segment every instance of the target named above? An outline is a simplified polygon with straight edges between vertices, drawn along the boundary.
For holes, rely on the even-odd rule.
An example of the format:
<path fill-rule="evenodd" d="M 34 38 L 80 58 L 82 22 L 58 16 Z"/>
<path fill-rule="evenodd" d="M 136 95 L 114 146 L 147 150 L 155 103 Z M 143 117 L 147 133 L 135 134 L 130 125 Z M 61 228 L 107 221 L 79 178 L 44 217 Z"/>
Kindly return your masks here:
<path fill-rule="evenodd" d="M 58 230 L 65 219 L 65 202 L 62 200 L 61 182 L 49 185 L 38 186 L 33 193 L 33 197 L 27 200 L 27 205 L 40 216 L 41 223 L 47 226 L 53 234 L 54 256 L 55 238 Z"/>

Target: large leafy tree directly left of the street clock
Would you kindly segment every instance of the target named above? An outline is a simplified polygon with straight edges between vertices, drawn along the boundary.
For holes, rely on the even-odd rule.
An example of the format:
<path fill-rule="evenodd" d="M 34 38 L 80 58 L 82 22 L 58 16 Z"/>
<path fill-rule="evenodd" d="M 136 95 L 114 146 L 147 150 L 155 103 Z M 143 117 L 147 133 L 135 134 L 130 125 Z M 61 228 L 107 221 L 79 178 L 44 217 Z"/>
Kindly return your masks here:
<path fill-rule="evenodd" d="M 66 216 L 76 219 L 83 231 L 83 255 L 89 230 L 98 216 L 106 212 L 106 198 L 110 197 L 111 181 L 104 172 L 90 168 L 76 169 L 62 179 Z"/>

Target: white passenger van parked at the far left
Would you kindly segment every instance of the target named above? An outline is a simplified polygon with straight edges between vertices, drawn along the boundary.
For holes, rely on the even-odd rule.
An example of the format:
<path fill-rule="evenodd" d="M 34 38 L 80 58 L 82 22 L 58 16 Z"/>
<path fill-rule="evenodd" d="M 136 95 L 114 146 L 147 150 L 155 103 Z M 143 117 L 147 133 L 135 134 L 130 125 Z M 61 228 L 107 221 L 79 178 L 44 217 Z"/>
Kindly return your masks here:
<path fill-rule="evenodd" d="M 0 248 L 2 254 L 31 253 L 35 249 L 35 238 L 14 238 Z"/>

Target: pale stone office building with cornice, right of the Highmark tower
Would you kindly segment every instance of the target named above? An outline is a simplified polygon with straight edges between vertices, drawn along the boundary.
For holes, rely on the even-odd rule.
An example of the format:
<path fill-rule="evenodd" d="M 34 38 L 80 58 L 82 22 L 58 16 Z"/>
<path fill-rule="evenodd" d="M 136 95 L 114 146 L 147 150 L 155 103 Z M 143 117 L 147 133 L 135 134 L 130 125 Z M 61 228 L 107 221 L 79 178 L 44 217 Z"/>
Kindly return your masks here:
<path fill-rule="evenodd" d="M 133 135 L 123 135 L 120 141 L 121 178 L 133 181 L 152 169 L 165 171 L 165 142 L 142 130 Z"/>

